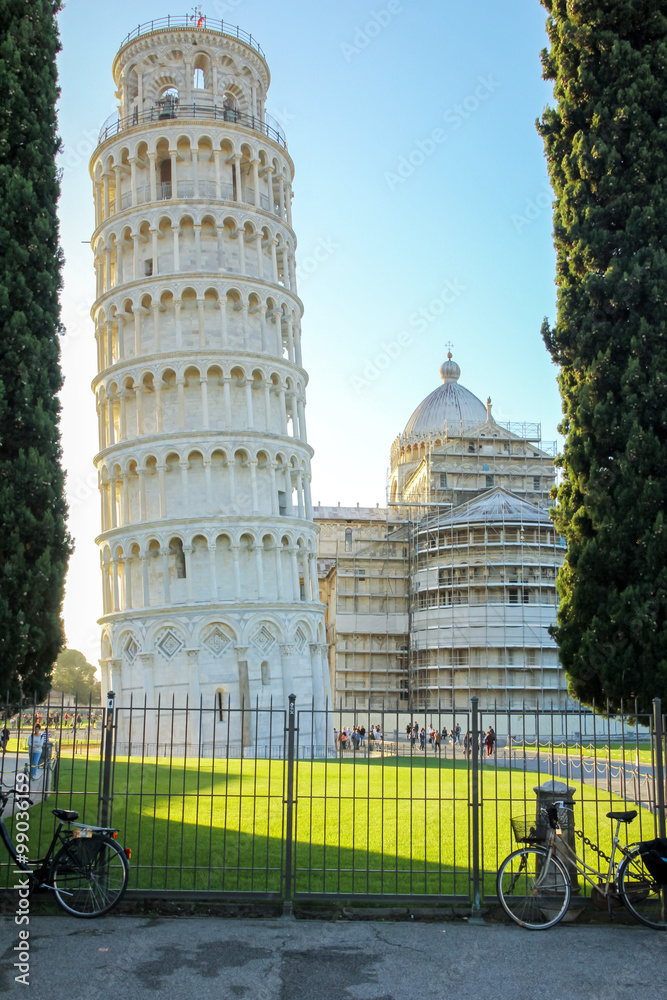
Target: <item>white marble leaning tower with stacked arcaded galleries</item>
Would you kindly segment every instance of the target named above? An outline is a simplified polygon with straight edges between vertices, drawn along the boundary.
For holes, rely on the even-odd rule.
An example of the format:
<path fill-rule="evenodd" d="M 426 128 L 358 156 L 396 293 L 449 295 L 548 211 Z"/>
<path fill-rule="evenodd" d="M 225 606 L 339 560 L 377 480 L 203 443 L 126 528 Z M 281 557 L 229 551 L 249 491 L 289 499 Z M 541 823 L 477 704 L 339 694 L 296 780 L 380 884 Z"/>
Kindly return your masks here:
<path fill-rule="evenodd" d="M 165 17 L 113 77 L 91 158 L 103 693 L 220 721 L 292 690 L 323 706 L 294 167 L 266 59 Z"/>

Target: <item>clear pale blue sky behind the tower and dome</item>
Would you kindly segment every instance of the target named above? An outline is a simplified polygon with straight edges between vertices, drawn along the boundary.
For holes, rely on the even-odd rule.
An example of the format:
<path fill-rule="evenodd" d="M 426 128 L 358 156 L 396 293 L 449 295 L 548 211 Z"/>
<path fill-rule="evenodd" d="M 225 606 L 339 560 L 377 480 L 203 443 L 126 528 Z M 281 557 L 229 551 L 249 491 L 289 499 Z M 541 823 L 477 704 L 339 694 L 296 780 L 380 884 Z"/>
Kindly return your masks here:
<path fill-rule="evenodd" d="M 62 430 L 76 541 L 65 627 L 68 644 L 94 663 L 101 580 L 94 276 L 82 242 L 93 229 L 88 160 L 116 107 L 111 62 L 123 37 L 190 9 L 68 0 L 60 15 Z M 268 110 L 295 162 L 313 499 L 384 503 L 391 443 L 440 384 L 449 341 L 461 383 L 490 395 L 497 419 L 539 421 L 554 440 L 556 369 L 540 337 L 542 318 L 555 317 L 555 290 L 535 130 L 550 100 L 538 0 L 211 0 L 203 12 L 259 39 L 272 75 Z"/>

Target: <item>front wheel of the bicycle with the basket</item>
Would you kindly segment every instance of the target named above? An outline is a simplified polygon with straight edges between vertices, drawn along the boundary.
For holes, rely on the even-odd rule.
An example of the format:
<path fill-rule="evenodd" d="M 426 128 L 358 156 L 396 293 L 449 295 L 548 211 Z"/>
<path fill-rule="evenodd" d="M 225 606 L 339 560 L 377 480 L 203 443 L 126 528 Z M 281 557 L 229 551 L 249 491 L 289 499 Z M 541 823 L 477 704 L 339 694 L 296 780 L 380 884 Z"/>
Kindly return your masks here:
<path fill-rule="evenodd" d="M 506 857 L 496 888 L 505 913 L 530 931 L 553 927 L 570 903 L 567 869 L 539 847 L 522 847 Z"/>

